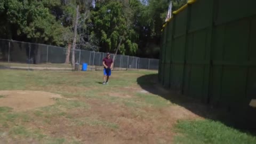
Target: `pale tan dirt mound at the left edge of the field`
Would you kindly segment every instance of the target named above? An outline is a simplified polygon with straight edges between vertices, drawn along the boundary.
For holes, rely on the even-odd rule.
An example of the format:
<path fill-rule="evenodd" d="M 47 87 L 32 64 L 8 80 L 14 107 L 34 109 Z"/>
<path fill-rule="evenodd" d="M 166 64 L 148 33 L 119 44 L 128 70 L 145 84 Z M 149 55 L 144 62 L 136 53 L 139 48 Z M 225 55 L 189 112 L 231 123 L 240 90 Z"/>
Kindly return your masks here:
<path fill-rule="evenodd" d="M 62 98 L 59 94 L 41 91 L 0 91 L 0 106 L 23 111 L 55 103 L 53 98 Z"/>

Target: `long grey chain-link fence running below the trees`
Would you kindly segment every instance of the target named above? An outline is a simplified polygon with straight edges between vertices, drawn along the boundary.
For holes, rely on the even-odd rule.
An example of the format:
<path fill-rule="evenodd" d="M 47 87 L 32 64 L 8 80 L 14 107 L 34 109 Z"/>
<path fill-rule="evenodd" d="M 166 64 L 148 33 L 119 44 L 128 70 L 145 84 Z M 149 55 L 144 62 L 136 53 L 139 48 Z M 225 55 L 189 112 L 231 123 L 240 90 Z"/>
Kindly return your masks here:
<path fill-rule="evenodd" d="M 79 63 L 80 70 L 83 63 L 87 63 L 88 70 L 103 69 L 102 59 L 106 53 L 86 50 L 75 50 L 75 62 Z M 69 61 L 67 49 L 44 44 L 34 44 L 0 39 L 0 68 L 24 69 L 68 69 L 71 70 L 70 50 Z M 113 58 L 114 54 L 111 54 Z M 114 70 L 149 69 L 158 70 L 158 59 L 116 55 Z"/>

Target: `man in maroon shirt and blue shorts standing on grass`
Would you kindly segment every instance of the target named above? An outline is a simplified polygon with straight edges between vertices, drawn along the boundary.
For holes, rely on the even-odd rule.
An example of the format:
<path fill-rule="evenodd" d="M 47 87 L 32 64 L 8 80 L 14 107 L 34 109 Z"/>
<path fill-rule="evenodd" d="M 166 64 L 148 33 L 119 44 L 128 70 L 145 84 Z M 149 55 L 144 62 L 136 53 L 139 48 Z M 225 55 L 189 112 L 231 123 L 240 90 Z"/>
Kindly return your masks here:
<path fill-rule="evenodd" d="M 103 59 L 103 85 L 108 84 L 109 76 L 111 75 L 111 69 L 113 68 L 113 60 L 110 58 L 110 54 L 107 53 L 107 57 Z"/>

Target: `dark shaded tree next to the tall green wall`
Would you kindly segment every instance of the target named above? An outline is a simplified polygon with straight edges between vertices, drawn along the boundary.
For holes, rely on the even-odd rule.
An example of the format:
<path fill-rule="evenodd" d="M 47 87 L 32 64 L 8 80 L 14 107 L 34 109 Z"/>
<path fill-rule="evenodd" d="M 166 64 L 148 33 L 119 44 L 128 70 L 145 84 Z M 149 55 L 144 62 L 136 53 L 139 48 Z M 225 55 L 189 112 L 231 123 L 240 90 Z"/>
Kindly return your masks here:
<path fill-rule="evenodd" d="M 174 11 L 187 2 L 187 0 L 172 1 L 172 10 Z M 140 37 L 137 41 L 139 45 L 137 56 L 158 58 L 161 29 L 165 23 L 169 2 L 170 0 L 148 0 L 138 3 L 136 0 L 130 0 L 130 3 L 133 3 L 133 10 L 136 11 L 133 20 L 136 26 L 135 31 Z"/>

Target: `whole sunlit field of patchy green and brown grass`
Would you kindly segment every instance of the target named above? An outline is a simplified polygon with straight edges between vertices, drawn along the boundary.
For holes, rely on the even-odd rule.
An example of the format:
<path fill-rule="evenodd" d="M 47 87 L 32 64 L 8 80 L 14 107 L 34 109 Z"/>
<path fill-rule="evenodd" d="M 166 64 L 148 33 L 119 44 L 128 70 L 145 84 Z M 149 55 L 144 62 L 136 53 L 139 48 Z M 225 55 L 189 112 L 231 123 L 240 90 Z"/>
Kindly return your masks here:
<path fill-rule="evenodd" d="M 138 81 L 144 75 L 155 76 Z M 30 103 L 20 103 L 25 109 L 0 104 L 0 143 L 256 143 L 161 97 L 169 92 L 155 87 L 156 71 L 113 71 L 108 85 L 101 71 L 0 70 L 0 77 L 0 90 L 61 95 L 51 104 L 29 94 Z M 0 103 L 8 97 L 0 94 Z M 33 99 L 45 106 L 31 108 Z"/>

